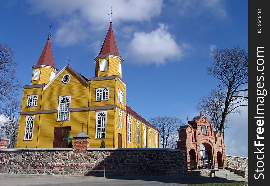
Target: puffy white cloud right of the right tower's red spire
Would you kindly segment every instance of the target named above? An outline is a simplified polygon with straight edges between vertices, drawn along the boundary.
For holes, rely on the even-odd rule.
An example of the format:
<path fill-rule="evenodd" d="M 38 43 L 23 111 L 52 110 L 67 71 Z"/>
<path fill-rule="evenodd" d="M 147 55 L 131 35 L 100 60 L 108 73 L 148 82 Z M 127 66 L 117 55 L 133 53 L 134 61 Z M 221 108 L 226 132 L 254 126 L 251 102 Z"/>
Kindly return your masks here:
<path fill-rule="evenodd" d="M 150 33 L 134 33 L 126 54 L 132 56 L 134 62 L 160 65 L 183 56 L 183 51 L 175 42 L 174 36 L 167 31 L 168 26 L 164 23 L 158 25 L 159 28 Z"/>

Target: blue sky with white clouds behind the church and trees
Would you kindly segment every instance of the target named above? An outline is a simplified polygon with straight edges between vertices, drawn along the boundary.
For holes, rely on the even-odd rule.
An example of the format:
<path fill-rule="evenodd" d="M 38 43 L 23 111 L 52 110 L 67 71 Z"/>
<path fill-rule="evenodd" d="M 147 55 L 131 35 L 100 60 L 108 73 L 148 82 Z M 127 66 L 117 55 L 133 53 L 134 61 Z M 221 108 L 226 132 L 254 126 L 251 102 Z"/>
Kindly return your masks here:
<path fill-rule="evenodd" d="M 214 88 L 206 74 L 211 50 L 248 50 L 248 1 L 1 1 L 0 42 L 16 52 L 18 78 L 31 83 L 52 21 L 56 68 L 70 66 L 94 77 L 95 61 L 109 28 L 110 8 L 128 105 L 142 117 L 199 115 L 196 104 Z M 22 90 L 18 95 L 22 97 Z M 229 116 L 226 153 L 248 156 L 248 107 Z"/>

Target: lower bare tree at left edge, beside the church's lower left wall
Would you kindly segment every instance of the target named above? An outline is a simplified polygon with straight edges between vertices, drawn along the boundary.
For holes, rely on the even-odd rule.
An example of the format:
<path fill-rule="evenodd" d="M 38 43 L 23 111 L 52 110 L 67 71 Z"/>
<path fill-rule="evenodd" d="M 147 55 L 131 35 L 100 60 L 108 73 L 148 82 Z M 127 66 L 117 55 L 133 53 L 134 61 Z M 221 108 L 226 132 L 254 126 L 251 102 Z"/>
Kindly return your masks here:
<path fill-rule="evenodd" d="M 9 139 L 8 148 L 15 148 L 17 144 L 20 105 L 20 101 L 15 99 L 1 108 L 1 116 L 7 118 L 1 126 L 1 133 Z"/>

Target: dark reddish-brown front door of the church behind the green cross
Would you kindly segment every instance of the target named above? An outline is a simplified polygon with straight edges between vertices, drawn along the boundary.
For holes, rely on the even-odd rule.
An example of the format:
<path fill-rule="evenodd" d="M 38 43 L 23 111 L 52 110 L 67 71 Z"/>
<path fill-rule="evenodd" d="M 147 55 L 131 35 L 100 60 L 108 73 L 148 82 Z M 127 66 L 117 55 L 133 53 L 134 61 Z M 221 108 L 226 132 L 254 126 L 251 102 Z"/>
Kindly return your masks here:
<path fill-rule="evenodd" d="M 68 138 L 69 131 L 70 126 L 54 127 L 53 147 L 68 147 L 68 140 L 63 138 Z"/>

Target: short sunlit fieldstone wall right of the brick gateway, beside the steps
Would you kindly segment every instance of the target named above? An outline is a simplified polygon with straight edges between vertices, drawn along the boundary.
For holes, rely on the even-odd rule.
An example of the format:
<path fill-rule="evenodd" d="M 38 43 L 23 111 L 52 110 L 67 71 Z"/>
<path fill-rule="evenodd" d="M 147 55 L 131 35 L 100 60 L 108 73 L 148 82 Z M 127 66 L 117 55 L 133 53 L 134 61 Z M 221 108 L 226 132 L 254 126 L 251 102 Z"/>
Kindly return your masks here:
<path fill-rule="evenodd" d="M 232 172 L 248 179 L 249 158 L 241 156 L 226 155 L 227 167 Z"/>

